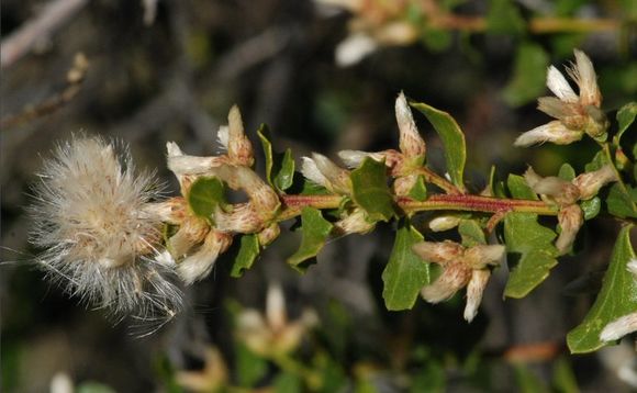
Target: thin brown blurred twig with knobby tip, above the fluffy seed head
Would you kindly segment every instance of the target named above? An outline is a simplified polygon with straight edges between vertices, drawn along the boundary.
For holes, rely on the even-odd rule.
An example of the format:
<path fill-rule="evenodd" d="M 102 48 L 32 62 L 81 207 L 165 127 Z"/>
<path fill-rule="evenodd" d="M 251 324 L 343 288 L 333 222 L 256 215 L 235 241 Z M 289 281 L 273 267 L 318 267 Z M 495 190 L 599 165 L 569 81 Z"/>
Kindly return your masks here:
<path fill-rule="evenodd" d="M 22 112 L 9 115 L 0 121 L 0 130 L 4 131 L 9 127 L 15 126 L 20 123 L 29 122 L 46 114 L 55 112 L 70 100 L 72 100 L 81 89 L 81 85 L 86 79 L 89 68 L 89 61 L 82 53 L 76 54 L 72 67 L 66 74 L 65 89 L 49 97 L 47 100 L 38 103 L 35 106 L 29 105 Z"/>

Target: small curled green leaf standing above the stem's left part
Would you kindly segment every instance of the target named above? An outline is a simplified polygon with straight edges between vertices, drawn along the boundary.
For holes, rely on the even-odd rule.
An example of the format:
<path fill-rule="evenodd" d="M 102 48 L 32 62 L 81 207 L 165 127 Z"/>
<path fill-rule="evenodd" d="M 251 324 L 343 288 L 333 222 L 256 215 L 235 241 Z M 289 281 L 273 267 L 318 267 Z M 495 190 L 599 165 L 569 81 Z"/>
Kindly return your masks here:
<path fill-rule="evenodd" d="M 284 154 L 273 153 L 269 131 L 265 124 L 259 126 L 257 135 L 261 141 L 264 156 L 266 157 L 266 180 L 268 180 L 271 187 L 281 192 L 289 189 L 294 178 L 294 158 L 292 157 L 292 150 L 287 149 Z"/>

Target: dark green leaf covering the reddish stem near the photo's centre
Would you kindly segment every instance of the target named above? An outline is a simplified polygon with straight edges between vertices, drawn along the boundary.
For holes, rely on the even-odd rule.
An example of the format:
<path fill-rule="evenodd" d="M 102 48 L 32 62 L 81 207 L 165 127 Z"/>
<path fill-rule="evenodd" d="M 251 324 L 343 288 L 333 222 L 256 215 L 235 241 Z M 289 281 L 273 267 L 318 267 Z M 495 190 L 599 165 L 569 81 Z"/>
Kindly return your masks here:
<path fill-rule="evenodd" d="M 351 199 L 367 212 L 371 222 L 389 221 L 394 216 L 385 170 L 384 162 L 367 157 L 351 171 Z"/>

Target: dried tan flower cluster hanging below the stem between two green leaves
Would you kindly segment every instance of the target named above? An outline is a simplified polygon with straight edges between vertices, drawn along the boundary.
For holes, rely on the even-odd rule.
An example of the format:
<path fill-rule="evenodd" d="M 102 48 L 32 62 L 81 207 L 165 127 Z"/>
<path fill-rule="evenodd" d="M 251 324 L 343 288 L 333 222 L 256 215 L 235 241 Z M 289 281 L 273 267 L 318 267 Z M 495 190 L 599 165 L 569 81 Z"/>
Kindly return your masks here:
<path fill-rule="evenodd" d="M 463 287 L 467 289 L 465 318 L 471 322 L 482 300 L 489 280 L 488 266 L 496 266 L 504 257 L 502 245 L 478 245 L 470 248 L 454 242 L 421 242 L 413 250 L 428 262 L 440 265 L 443 272 L 432 284 L 421 291 L 429 303 L 439 303 L 451 297 Z"/>

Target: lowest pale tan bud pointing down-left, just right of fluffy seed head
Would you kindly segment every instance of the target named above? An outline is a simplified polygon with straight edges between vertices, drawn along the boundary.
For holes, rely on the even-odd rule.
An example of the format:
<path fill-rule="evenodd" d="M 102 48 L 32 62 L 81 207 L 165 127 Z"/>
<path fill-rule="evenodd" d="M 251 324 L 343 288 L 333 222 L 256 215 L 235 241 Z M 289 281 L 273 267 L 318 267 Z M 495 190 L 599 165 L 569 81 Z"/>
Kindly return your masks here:
<path fill-rule="evenodd" d="M 192 255 L 177 263 L 177 274 L 187 285 L 210 274 L 216 258 L 232 244 L 232 236 L 217 231 L 210 231 L 201 247 Z"/>

